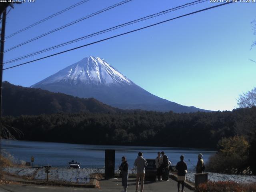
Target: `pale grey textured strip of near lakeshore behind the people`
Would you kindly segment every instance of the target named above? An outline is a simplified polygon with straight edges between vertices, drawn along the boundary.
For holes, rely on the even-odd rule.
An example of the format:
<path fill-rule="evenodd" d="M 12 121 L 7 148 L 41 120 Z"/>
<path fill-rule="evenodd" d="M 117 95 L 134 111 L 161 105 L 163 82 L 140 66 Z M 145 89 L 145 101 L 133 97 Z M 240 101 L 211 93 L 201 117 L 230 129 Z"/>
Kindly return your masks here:
<path fill-rule="evenodd" d="M 3 168 L 6 174 L 26 178 L 28 180 L 46 180 L 46 173 L 44 168 L 31 168 L 31 167 L 6 167 Z M 104 169 L 92 168 L 50 168 L 49 181 L 50 182 L 64 182 L 76 184 L 89 184 L 93 174 L 104 174 Z M 119 175 L 119 170 L 115 170 L 115 174 Z M 134 175 L 135 172 L 129 170 L 129 174 Z M 170 172 L 172 174 L 172 172 Z M 188 172 L 186 180 L 194 183 L 194 172 Z M 232 181 L 238 183 L 254 183 L 256 176 L 250 175 L 235 175 L 235 174 L 221 174 L 221 173 L 208 173 L 208 180 L 212 182 L 218 181 Z"/>

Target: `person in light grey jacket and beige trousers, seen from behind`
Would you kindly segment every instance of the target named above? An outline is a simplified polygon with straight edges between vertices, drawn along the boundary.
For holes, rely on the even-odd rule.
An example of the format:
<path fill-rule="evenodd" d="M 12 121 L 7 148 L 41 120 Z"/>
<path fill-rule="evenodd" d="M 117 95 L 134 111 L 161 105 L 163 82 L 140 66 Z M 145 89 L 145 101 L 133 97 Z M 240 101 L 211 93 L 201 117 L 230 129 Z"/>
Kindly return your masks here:
<path fill-rule="evenodd" d="M 142 157 L 142 152 L 138 153 L 138 157 L 134 162 L 134 166 L 136 166 L 136 170 L 137 170 L 136 192 L 138 192 L 140 180 L 141 180 L 140 192 L 143 192 L 145 168 L 146 166 L 148 166 L 148 162 L 146 161 L 146 159 Z"/>

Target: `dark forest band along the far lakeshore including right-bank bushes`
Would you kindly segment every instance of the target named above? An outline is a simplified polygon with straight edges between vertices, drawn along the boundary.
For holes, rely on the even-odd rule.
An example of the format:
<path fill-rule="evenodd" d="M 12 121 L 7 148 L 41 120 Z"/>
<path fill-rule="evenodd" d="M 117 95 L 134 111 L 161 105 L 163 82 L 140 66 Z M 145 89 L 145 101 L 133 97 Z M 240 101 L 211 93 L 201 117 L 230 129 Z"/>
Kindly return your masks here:
<path fill-rule="evenodd" d="M 215 148 L 218 152 L 208 165 L 212 171 L 241 173 L 250 166 L 256 174 L 256 107 L 181 114 L 136 110 L 5 116 L 3 124 L 20 130 L 22 134 L 9 129 L 19 140 Z"/>

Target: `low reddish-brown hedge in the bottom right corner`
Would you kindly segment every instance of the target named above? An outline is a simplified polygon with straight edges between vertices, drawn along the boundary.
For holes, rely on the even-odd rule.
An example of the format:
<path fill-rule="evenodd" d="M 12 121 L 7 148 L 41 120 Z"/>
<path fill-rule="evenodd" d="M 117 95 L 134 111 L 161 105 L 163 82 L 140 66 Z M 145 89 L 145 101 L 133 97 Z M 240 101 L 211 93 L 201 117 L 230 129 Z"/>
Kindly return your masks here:
<path fill-rule="evenodd" d="M 240 184 L 236 182 L 207 182 L 200 184 L 198 192 L 256 192 L 256 183 Z"/>

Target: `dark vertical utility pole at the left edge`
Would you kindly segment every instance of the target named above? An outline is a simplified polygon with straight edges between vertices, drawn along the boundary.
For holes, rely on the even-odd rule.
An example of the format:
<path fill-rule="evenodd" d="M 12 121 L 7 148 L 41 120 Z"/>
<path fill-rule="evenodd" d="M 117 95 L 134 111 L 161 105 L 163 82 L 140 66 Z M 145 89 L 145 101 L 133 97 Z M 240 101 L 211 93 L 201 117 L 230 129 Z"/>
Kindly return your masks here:
<path fill-rule="evenodd" d="M 5 21 L 6 21 L 6 9 L 2 14 L 2 29 L 1 29 L 1 42 L 0 42 L 1 43 L 0 44 L 0 153 L 1 153 L 1 135 L 2 135 L 2 89 L 3 89 L 2 84 L 3 84 L 3 66 L 4 66 Z"/>

